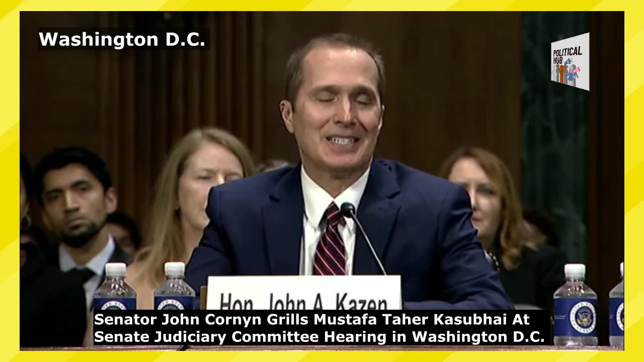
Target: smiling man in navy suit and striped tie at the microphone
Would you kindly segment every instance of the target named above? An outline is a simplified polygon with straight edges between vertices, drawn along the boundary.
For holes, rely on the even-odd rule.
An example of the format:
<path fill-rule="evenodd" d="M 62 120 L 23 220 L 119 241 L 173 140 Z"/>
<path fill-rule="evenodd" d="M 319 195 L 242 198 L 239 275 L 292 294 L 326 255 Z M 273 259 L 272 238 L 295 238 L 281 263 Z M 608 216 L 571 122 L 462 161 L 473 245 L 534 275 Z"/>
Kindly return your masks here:
<path fill-rule="evenodd" d="M 408 309 L 513 308 L 464 189 L 373 158 L 383 95 L 383 61 L 361 39 L 316 38 L 291 55 L 279 108 L 301 164 L 211 189 L 210 222 L 187 265 L 196 291 L 208 276 L 381 274 L 339 216 L 352 202 L 386 272 L 401 275 Z"/>

